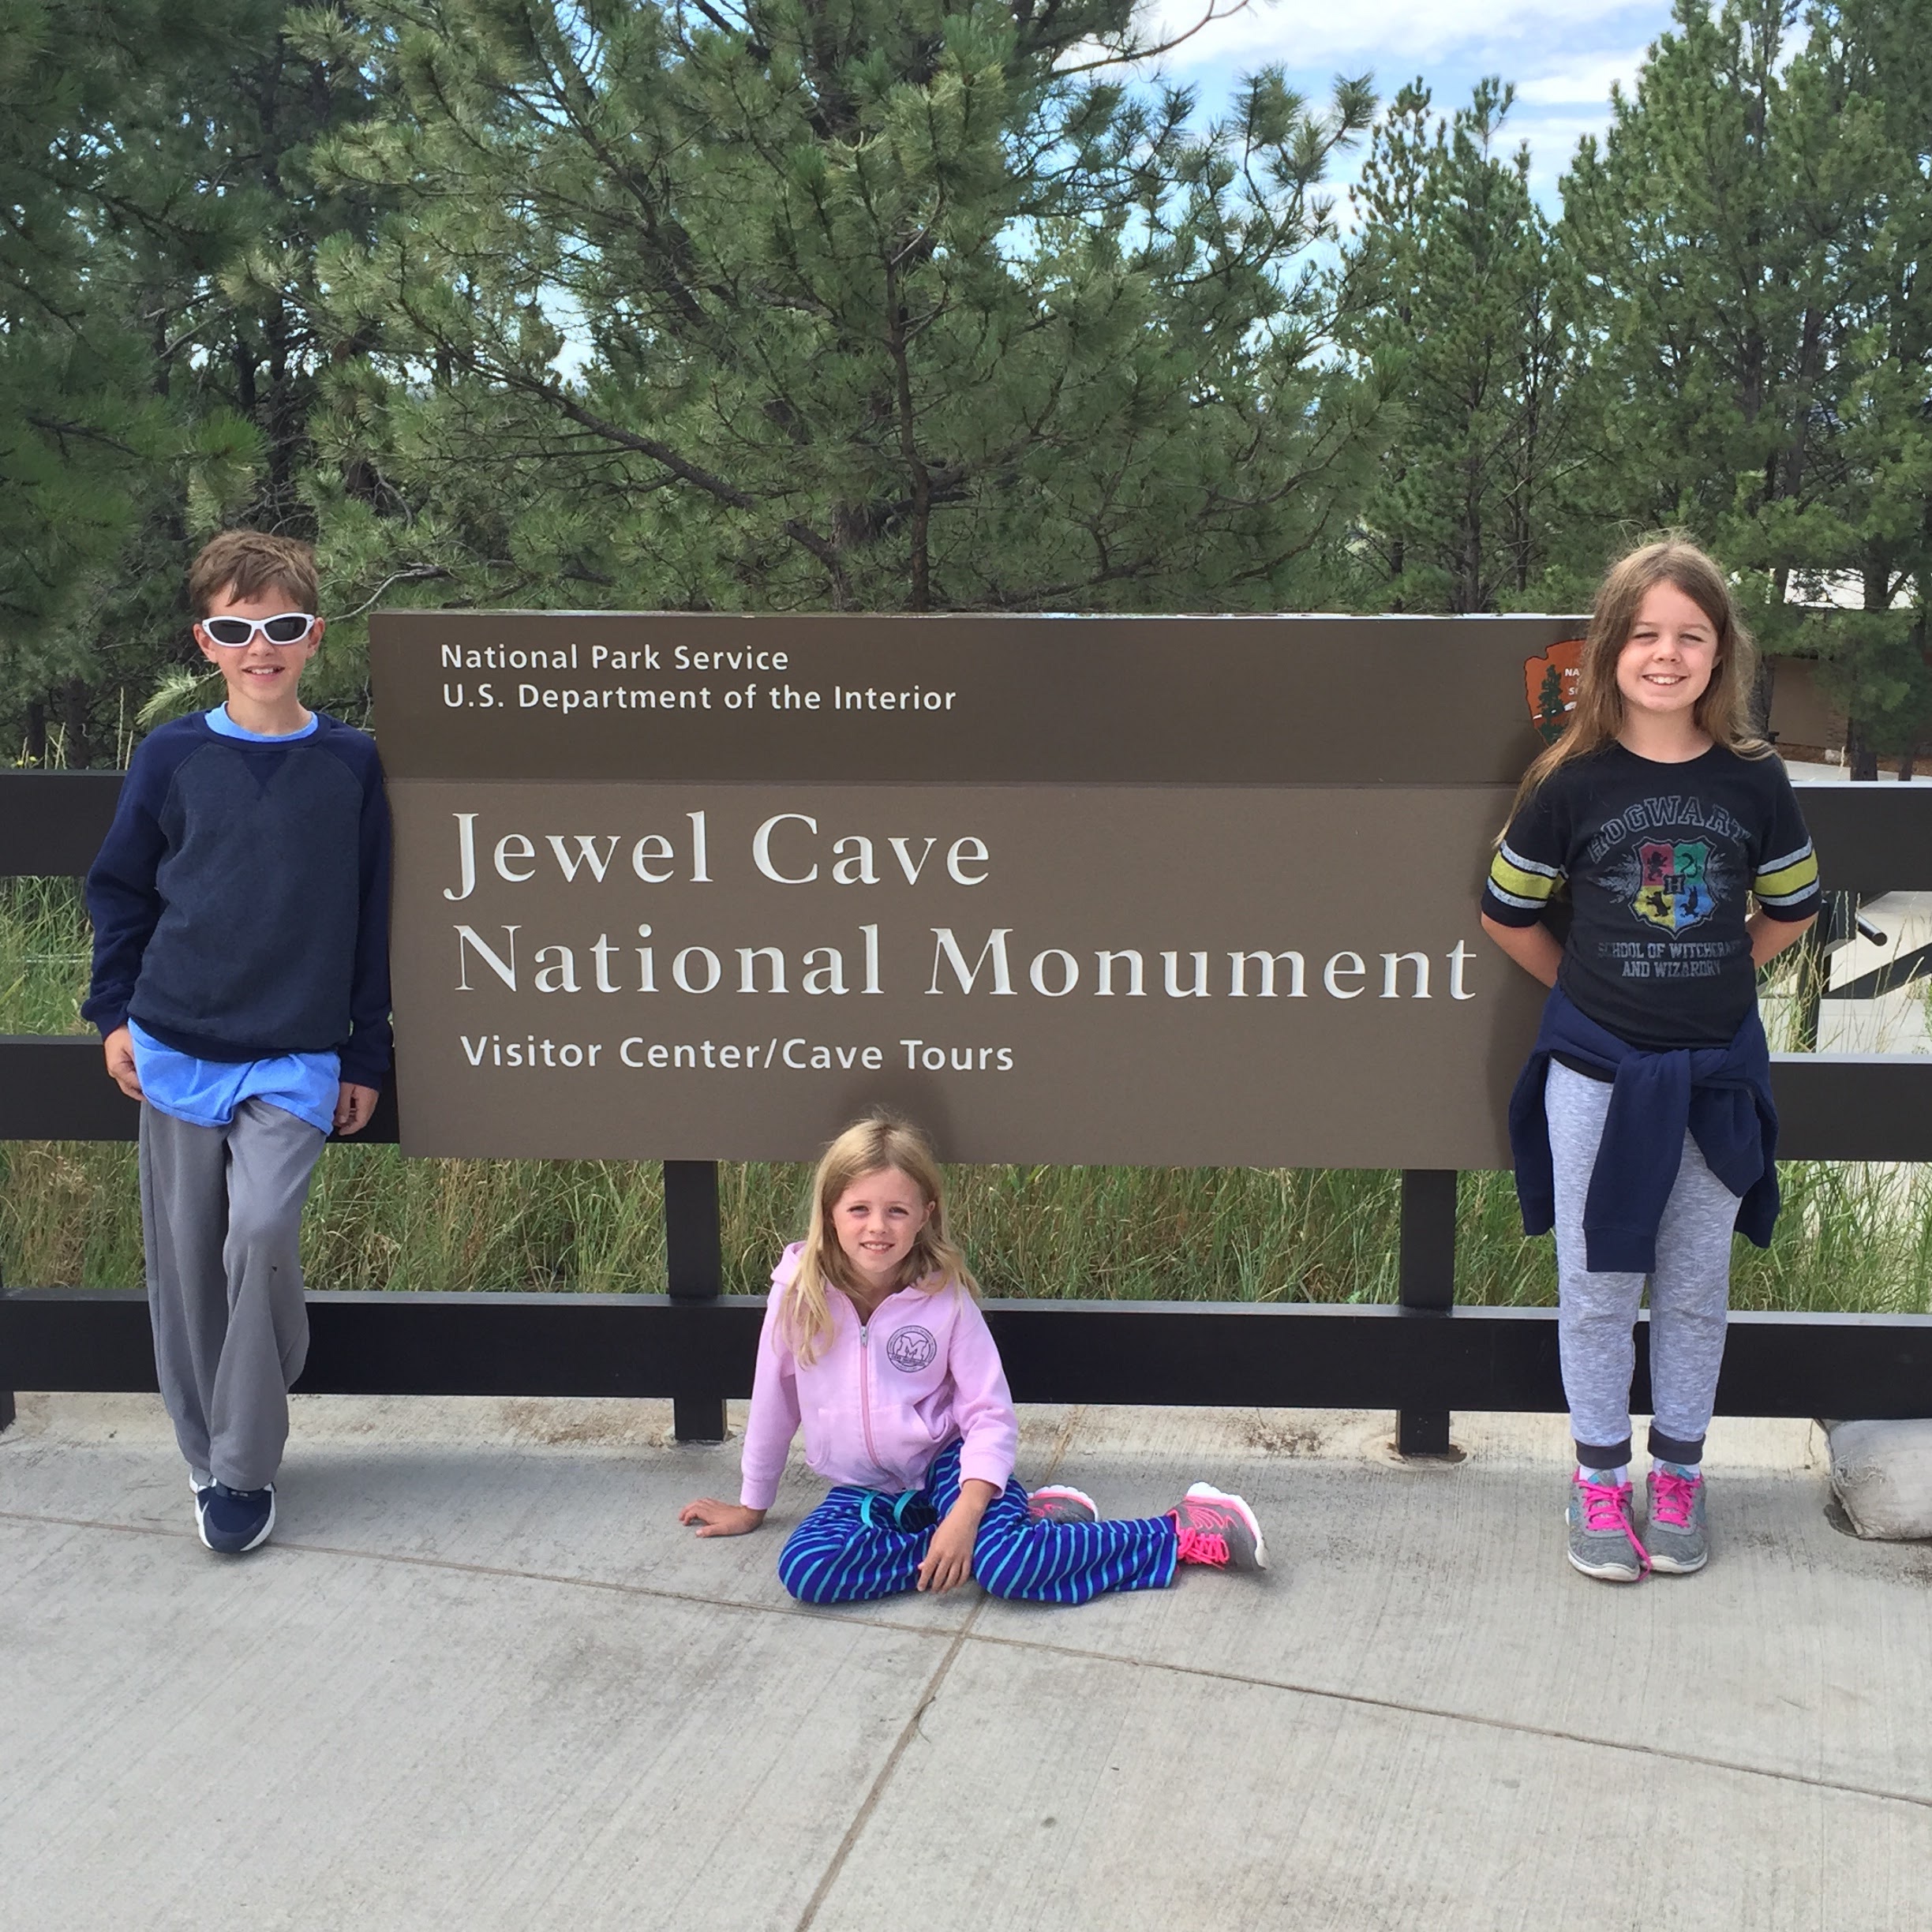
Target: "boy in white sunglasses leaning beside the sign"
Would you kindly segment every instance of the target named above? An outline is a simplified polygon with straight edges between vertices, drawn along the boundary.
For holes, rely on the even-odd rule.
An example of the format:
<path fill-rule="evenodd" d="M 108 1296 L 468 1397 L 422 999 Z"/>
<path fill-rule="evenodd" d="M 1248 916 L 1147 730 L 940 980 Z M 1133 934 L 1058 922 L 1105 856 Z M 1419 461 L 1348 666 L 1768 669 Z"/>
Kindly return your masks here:
<path fill-rule="evenodd" d="M 375 742 L 303 709 L 315 556 L 230 529 L 187 574 L 228 701 L 151 732 L 93 871 L 81 1012 L 141 1101 L 155 1366 L 209 1549 L 274 1528 L 309 1318 L 298 1233 L 330 1128 L 388 1070 L 388 802 Z"/>

